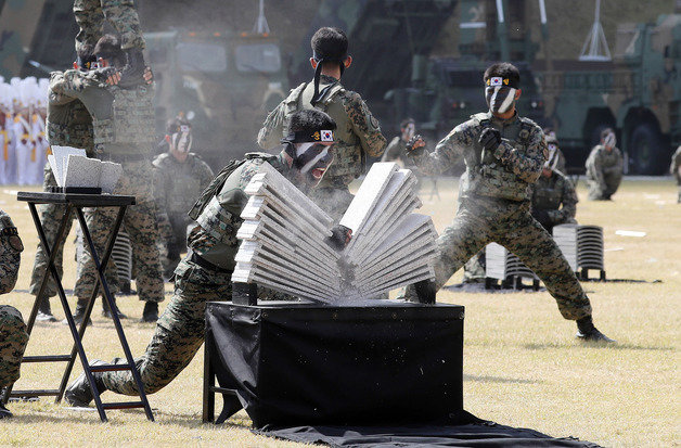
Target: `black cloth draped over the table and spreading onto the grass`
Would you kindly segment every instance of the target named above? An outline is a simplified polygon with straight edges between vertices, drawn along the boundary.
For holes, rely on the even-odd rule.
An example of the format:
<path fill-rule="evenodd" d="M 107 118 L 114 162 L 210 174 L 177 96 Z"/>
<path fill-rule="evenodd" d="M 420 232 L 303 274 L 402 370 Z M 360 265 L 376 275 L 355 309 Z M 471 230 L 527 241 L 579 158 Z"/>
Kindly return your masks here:
<path fill-rule="evenodd" d="M 257 434 L 342 447 L 598 447 L 463 410 L 463 307 L 208 303 L 206 349 Z"/>

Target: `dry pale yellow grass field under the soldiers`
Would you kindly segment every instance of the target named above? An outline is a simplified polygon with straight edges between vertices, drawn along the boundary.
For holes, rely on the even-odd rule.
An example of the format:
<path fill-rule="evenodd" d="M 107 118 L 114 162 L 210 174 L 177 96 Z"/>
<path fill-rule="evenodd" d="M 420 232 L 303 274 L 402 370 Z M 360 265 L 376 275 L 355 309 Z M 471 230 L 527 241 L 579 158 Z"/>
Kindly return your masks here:
<path fill-rule="evenodd" d="M 454 180 L 440 180 L 440 200 L 422 191 L 423 213 L 439 230 L 455 209 Z M 20 229 L 26 249 L 15 292 L 0 303 L 17 307 L 27 318 L 33 296 L 26 293 L 37 235 L 28 208 L 4 187 L 0 208 Z M 625 180 L 614 202 L 586 201 L 578 187 L 577 219 L 604 228 L 608 278 L 647 283 L 583 283 L 600 330 L 618 341 L 614 346 L 584 345 L 575 340 L 575 324 L 561 318 L 545 292 L 462 294 L 441 292 L 438 300 L 466 307 L 464 343 L 464 407 L 496 422 L 531 427 L 553 436 L 575 436 L 603 446 L 671 447 L 681 445 L 679 364 L 679 305 L 681 304 L 681 205 L 670 179 Z M 646 232 L 643 238 L 620 236 L 617 230 Z M 73 233 L 69 236 L 73 241 Z M 68 243 L 66 260 L 74 259 Z M 459 282 L 458 272 L 452 282 Z M 661 280 L 659 283 L 650 283 Z M 66 289 L 75 282 L 67 263 Z M 167 298 L 171 291 L 166 285 Z M 154 330 L 139 323 L 142 303 L 124 296 L 119 306 L 133 355 L 141 354 Z M 53 299 L 59 318 L 63 312 Z M 162 304 L 162 309 L 163 306 Z M 111 321 L 95 305 L 94 324 L 85 344 L 90 359 L 123 356 Z M 27 355 L 69 350 L 67 328 L 37 324 Z M 242 411 L 222 426 L 201 423 L 203 354 L 169 386 L 150 396 L 156 423 L 140 410 L 110 411 L 102 424 L 95 411 L 74 411 L 43 398 L 11 404 L 15 418 L 0 424 L 0 445 L 228 445 L 294 446 L 253 435 Z M 80 373 L 78 364 L 74 377 Z M 59 385 L 61 364 L 26 364 L 17 388 Z M 125 400 L 106 393 L 105 401 Z M 218 399 L 218 401 L 220 401 Z M 94 408 L 92 408 L 94 409 Z"/>

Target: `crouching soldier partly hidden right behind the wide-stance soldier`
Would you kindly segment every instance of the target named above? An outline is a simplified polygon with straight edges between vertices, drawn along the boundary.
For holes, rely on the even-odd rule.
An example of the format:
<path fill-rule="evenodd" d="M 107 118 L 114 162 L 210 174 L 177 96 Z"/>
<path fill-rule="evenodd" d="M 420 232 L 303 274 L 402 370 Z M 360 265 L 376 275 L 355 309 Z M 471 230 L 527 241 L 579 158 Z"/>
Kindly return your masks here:
<path fill-rule="evenodd" d="M 541 169 L 541 176 L 539 176 L 537 183 L 531 187 L 530 210 L 532 217 L 549 233 L 553 231 L 553 226 L 577 223 L 575 219 L 577 202 L 579 202 L 577 192 L 567 176 L 552 168 L 556 164 L 557 156 L 555 152 L 550 155 Z"/>

